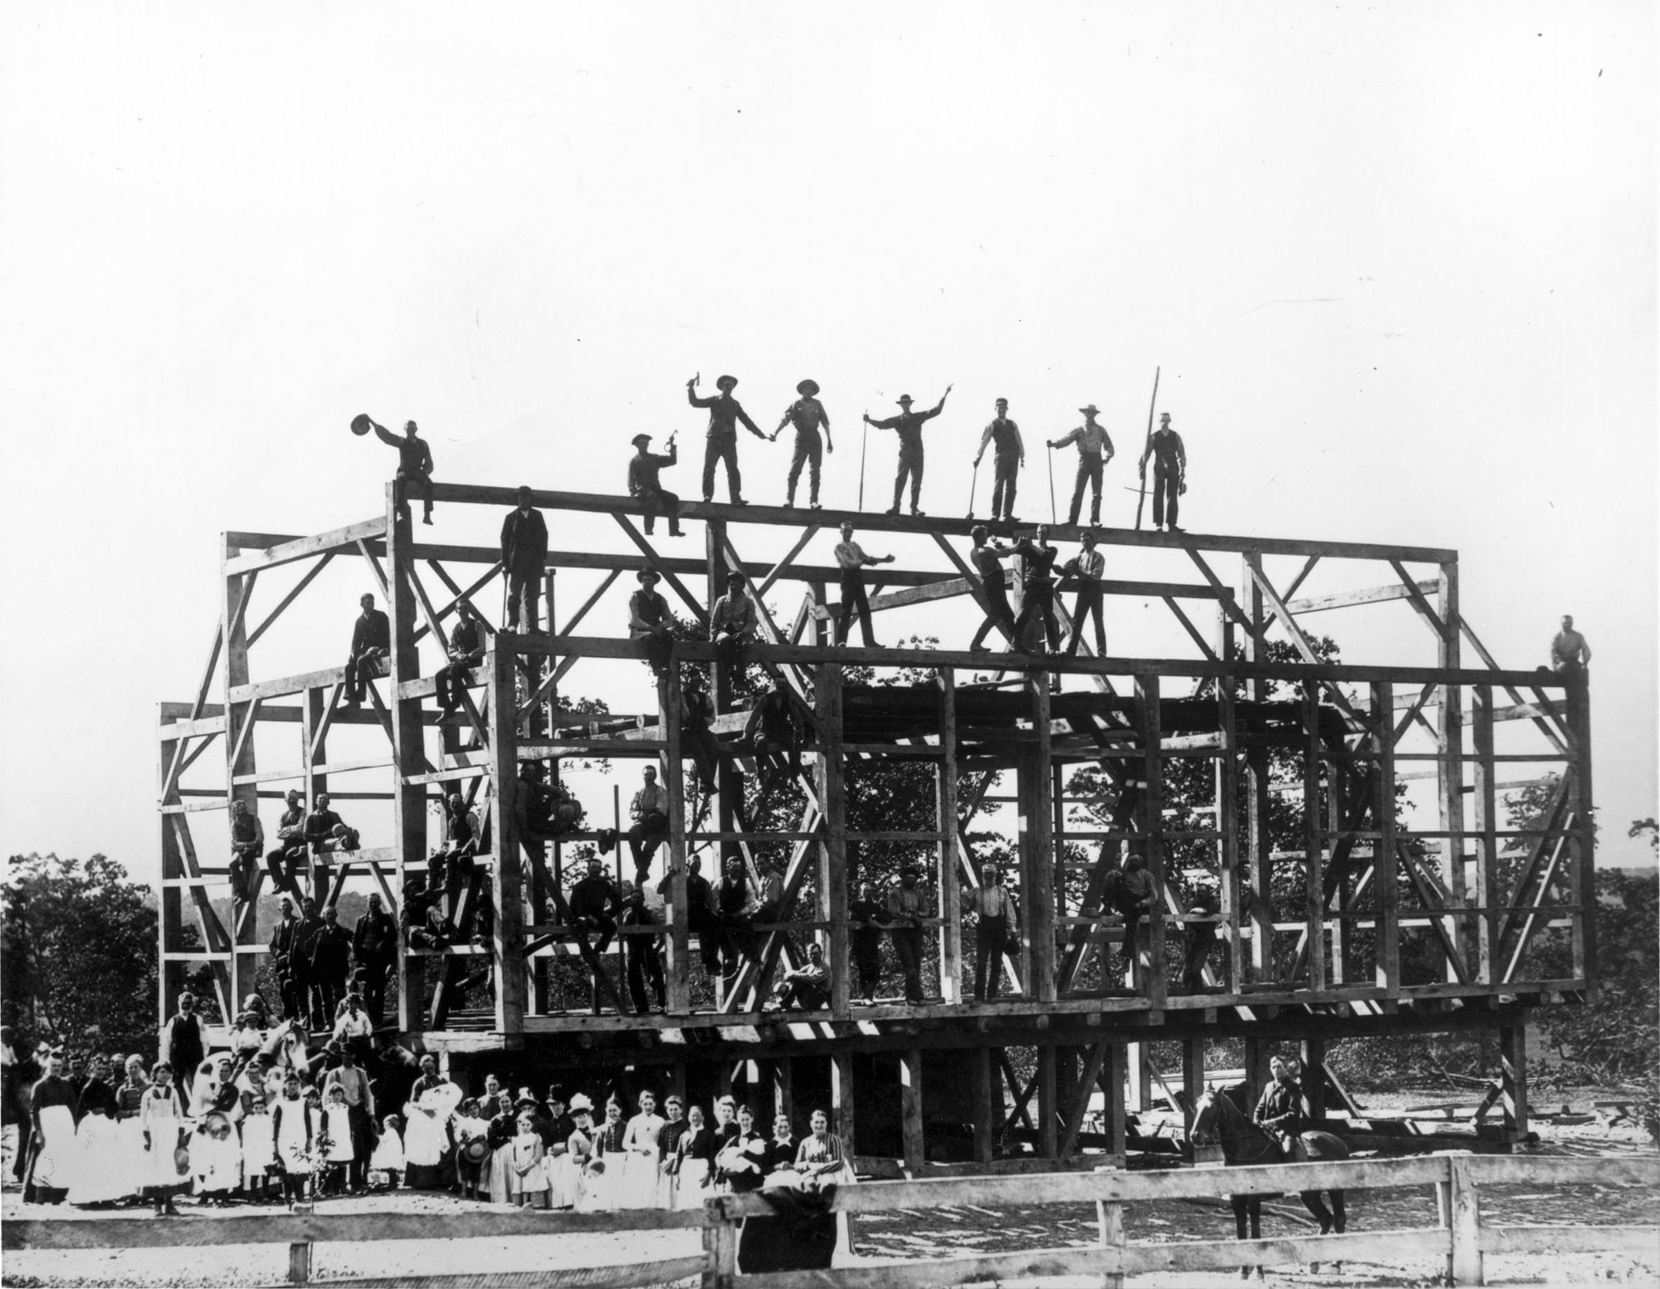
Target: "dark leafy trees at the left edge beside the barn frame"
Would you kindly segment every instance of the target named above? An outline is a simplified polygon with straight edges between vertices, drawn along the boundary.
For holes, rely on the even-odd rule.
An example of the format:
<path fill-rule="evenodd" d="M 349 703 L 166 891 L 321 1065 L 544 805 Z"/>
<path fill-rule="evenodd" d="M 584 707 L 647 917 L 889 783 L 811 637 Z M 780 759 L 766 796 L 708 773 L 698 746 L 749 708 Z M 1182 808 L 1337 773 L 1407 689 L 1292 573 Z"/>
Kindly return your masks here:
<path fill-rule="evenodd" d="M 156 1043 L 156 909 L 105 855 L 12 855 L 0 889 L 8 1022 L 91 1051 Z"/>

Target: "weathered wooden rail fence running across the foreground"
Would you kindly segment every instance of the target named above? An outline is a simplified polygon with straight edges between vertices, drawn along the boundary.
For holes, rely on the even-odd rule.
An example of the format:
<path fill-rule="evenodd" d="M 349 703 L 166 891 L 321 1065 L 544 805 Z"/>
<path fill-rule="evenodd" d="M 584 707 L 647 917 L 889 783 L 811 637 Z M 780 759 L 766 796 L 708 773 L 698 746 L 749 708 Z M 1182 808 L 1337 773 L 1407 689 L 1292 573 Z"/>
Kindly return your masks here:
<path fill-rule="evenodd" d="M 420 1216 L 395 1213 L 282 1214 L 222 1219 L 154 1221 L 143 1218 L 18 1219 L 0 1228 L 0 1247 L 22 1249 L 136 1249 L 217 1244 L 287 1244 L 289 1282 L 312 1281 L 312 1246 L 388 1239 L 490 1239 L 503 1236 L 622 1234 L 634 1231 L 701 1229 L 699 1254 L 657 1257 L 626 1266 L 558 1267 L 466 1276 L 402 1276 L 330 1279 L 354 1289 L 470 1289 L 470 1286 L 544 1286 L 546 1289 L 626 1289 L 692 1276 L 704 1289 L 903 1289 L 1036 1276 L 1101 1276 L 1120 1286 L 1124 1276 L 1147 1271 L 1215 1271 L 1242 1266 L 1310 1262 L 1393 1262 L 1426 1252 L 1446 1259 L 1452 1284 L 1482 1284 L 1487 1254 L 1632 1251 L 1660 1247 L 1655 1226 L 1492 1226 L 1481 1219 L 1481 1186 L 1633 1184 L 1660 1188 L 1660 1156 L 1642 1159 L 1559 1159 L 1474 1154 L 1433 1154 L 1409 1159 L 1348 1159 L 1341 1163 L 1257 1168 L 1199 1168 L 1157 1173 L 1051 1173 L 1028 1176 L 941 1178 L 845 1186 L 830 1204 L 835 1213 L 891 1213 L 963 1204 L 1021 1206 L 1094 1203 L 1099 1242 L 1092 1247 L 1029 1249 L 984 1256 L 896 1261 L 837 1271 L 742 1274 L 737 1266 L 739 1229 L 745 1218 L 774 1213 L 767 1194 L 719 1196 L 691 1211 L 637 1209 L 622 1213 L 531 1213 L 485 1209 Z M 1331 1236 L 1275 1239 L 1207 1239 L 1130 1244 L 1124 1238 L 1124 1204 L 1155 1199 L 1225 1198 L 1258 1191 L 1286 1194 L 1303 1189 L 1350 1191 L 1434 1186 L 1439 1226 L 1398 1231 L 1356 1231 Z M 1365 1211 L 1365 1209 L 1361 1209 Z M 480 1249 L 483 1256 L 483 1249 Z"/>

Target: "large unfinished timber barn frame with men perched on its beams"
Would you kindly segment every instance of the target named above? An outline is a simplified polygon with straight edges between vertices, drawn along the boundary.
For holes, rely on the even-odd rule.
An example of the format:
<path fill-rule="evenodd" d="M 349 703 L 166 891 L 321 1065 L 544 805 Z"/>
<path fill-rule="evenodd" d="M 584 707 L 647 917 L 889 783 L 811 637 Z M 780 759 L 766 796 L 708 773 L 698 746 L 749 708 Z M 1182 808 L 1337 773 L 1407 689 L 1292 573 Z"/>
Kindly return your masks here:
<path fill-rule="evenodd" d="M 503 510 L 516 503 L 516 490 L 505 487 L 435 483 L 433 497 L 445 507 Z M 390 801 L 397 841 L 334 864 L 327 880 L 335 895 L 347 882 L 374 882 L 395 912 L 402 875 L 423 870 L 435 844 L 428 837 L 433 794 L 460 786 L 488 812 L 490 850 L 480 859 L 473 882 L 455 894 L 453 912 L 463 914 L 488 887 L 495 904 L 493 943 L 405 947 L 398 960 L 397 1040 L 443 1053 L 458 1068 L 508 1053 L 538 1070 L 626 1063 L 656 1066 L 679 1088 L 686 1086 L 689 1066 L 712 1066 L 722 1088 L 747 1070 L 755 1086 L 767 1086 L 787 1106 L 792 1070 L 802 1061 L 820 1061 L 828 1068 L 838 1131 L 852 1140 L 855 1060 L 876 1056 L 895 1063 L 896 1078 L 883 1078 L 862 1091 L 862 1098 L 865 1105 L 872 1096 L 885 1098 L 885 1108 L 888 1098 L 898 1101 L 900 1149 L 890 1154 L 896 1158 L 895 1168 L 915 1173 L 938 1153 L 928 1141 L 925 1085 L 935 1078 L 933 1071 L 950 1065 L 953 1088 L 966 1078 L 964 1113 L 973 1126 L 973 1141 L 956 1168 L 1057 1168 L 1077 1159 L 1084 1144 L 1122 1156 L 1125 1110 L 1145 1108 L 1150 1096 L 1149 1043 L 1184 1045 L 1189 1093 L 1204 1078 L 1205 1038 L 1243 1037 L 1253 1080 L 1262 1076 L 1268 1045 L 1298 1043 L 1306 1066 L 1305 1095 L 1318 1118 L 1328 1103 L 1346 1098 L 1325 1066 L 1326 1043 L 1474 1028 L 1497 1032 L 1501 1038 L 1502 1140 L 1514 1141 L 1527 1131 L 1527 1008 L 1580 1002 L 1597 982 L 1587 703 L 1582 681 L 1499 668 L 1459 611 L 1456 551 L 1101 528 L 1096 532 L 1109 556 L 1112 548 L 1124 546 L 1185 553 L 1197 575 L 1194 581 L 1107 581 L 1106 591 L 1160 601 L 1190 641 L 1190 656 L 1096 658 L 1087 644 L 1072 658 L 1016 653 L 1008 644 L 994 654 L 961 648 L 860 649 L 835 648 L 830 640 L 835 605 L 828 595 L 837 568 L 800 563 L 808 540 L 820 530 L 833 532 L 842 520 L 867 533 L 931 538 L 940 556 L 933 566 L 872 571 L 872 608 L 883 613 L 979 596 L 978 581 L 951 543 L 968 535 L 971 520 L 686 503 L 682 522 L 702 525 L 706 533 L 706 551 L 696 558 L 659 550 L 641 530 L 641 505 L 632 498 L 536 492 L 535 503 L 549 520 L 591 517 L 614 523 L 636 553 L 549 550 L 549 626 L 559 571 L 599 573 L 598 590 L 551 635 L 490 628 L 490 648 L 463 711 L 447 718 L 425 703 L 433 681 L 420 671 L 417 646 L 423 636 L 442 646 L 456 605 L 501 576 L 495 548 L 417 540 L 395 485 L 387 488 L 383 515 L 334 532 L 224 533 L 222 606 L 201 684 L 193 701 L 163 703 L 159 709 L 163 1018 L 174 1007 L 183 968 L 203 963 L 211 968 L 221 1015 L 229 1017 L 234 1000 L 249 992 L 257 958 L 266 952 L 254 937 L 257 885 L 254 900 L 236 905 L 229 919 L 221 915 L 209 892 L 224 885 L 224 867 L 216 859 L 204 864 L 191 837 L 191 816 L 224 811 L 232 801 L 254 806 L 281 797 L 290 786 L 310 801 L 327 787 L 330 774 L 383 767 L 390 779 L 385 791 L 334 796 Z M 740 538 L 757 527 L 795 532 L 782 560 L 744 558 Z M 1009 523 L 989 527 L 999 535 L 1016 532 Z M 1021 533 L 1029 530 L 1031 525 L 1018 525 Z M 561 532 L 554 527 L 556 537 Z M 1076 542 L 1081 533 L 1064 525 L 1051 528 L 1057 542 Z M 1277 585 L 1265 571 L 1267 556 L 1295 556 L 1303 563 L 1295 576 L 1282 576 Z M 1237 586 L 1223 576 L 1222 558 L 1237 558 Z M 251 648 L 334 560 L 360 560 L 369 586 L 390 603 L 390 674 L 362 711 L 340 708 L 339 666 L 272 679 L 256 679 L 251 671 Z M 1381 565 L 1376 580 L 1383 585 L 1295 598 L 1321 561 Z M 656 699 L 634 716 L 594 723 L 561 709 L 561 684 L 583 659 L 641 658 L 622 631 L 578 635 L 578 628 L 594 620 L 596 603 L 624 573 L 646 563 L 662 573 L 676 610 L 696 620 L 706 620 L 729 570 L 745 575 L 762 605 L 759 641 L 747 649 L 745 661 L 774 669 L 810 713 L 807 772 L 798 784 L 807 809 L 792 831 L 747 826 L 734 757 L 720 762 L 715 827 L 687 831 L 681 733 L 677 719 L 671 719 L 679 711 L 677 668 L 657 686 Z M 287 565 L 304 568 L 302 575 L 251 626 L 256 585 Z M 774 618 L 765 606 L 769 596 L 785 588 L 792 595 L 800 591 L 788 621 L 788 615 Z M 1433 666 L 1318 661 L 1305 626 L 1308 615 L 1396 600 L 1406 601 L 1433 635 Z M 1059 596 L 1056 603 L 1059 610 Z M 622 616 L 613 611 L 609 621 L 619 625 Z M 1295 646 L 1296 663 L 1267 661 L 1272 635 Z M 1477 666 L 1466 664 L 1466 646 Z M 712 666 L 714 649 L 706 643 L 679 643 L 677 658 Z M 848 694 L 843 683 L 845 664 L 926 668 L 931 691 L 926 696 L 910 691 L 921 716 L 913 713 L 911 724 L 896 734 L 872 733 L 872 723 L 857 713 L 858 694 Z M 994 673 L 989 681 L 974 679 L 988 671 Z M 1074 678 L 1084 688 L 1051 693 L 1054 674 Z M 216 676 L 222 688 L 219 701 L 209 703 Z M 649 694 L 644 669 L 641 676 L 641 691 Z M 1265 734 L 1257 714 L 1267 704 L 1272 681 L 1295 686 L 1300 703 L 1275 704 L 1277 724 Z M 1565 693 L 1567 684 L 1579 691 Z M 724 674 L 717 676 L 712 696 L 720 713 L 715 733 L 730 736 L 745 714 L 730 711 Z M 1575 713 L 1572 728 L 1567 713 Z M 251 734 L 261 721 L 297 728 L 294 762 L 277 769 L 256 766 Z M 1531 726 L 1532 751 L 1496 751 L 1496 726 L 1506 721 Z M 383 729 L 385 754 L 372 761 L 330 761 L 329 736 L 349 724 Z M 1413 731 L 1414 738 L 1428 733 L 1433 749 L 1403 751 L 1403 739 Z M 186 771 L 216 741 L 224 751 L 224 781 L 186 786 Z M 1268 841 L 1268 754 L 1270 746 L 1288 741 L 1306 749 L 1301 791 L 1313 809 L 1305 811 L 1301 850 L 1275 852 Z M 614 965 L 599 972 L 603 1005 L 578 1012 L 556 1012 L 549 1005 L 548 960 L 578 953 L 591 967 L 599 965 L 586 937 L 571 930 L 556 880 L 559 847 L 593 834 L 571 834 L 553 844 L 521 837 L 513 809 L 516 767 L 521 761 L 556 764 L 581 756 L 654 761 L 671 792 L 664 1013 L 634 1013 L 616 963 L 618 947 L 608 953 Z M 898 757 L 933 767 L 935 829 L 850 832 L 848 767 Z M 1187 757 L 1213 767 L 1212 826 L 1170 834 L 1164 822 L 1164 774 L 1172 759 Z M 1062 769 L 1082 762 L 1097 764 L 1114 782 L 1135 789 L 1125 794 L 1134 807 L 1107 831 L 1067 829 Z M 1414 762 L 1423 769 L 1413 769 Z M 1497 792 L 1514 786 L 1501 782 L 1507 762 L 1544 764 L 1559 776 L 1539 831 L 1499 827 Z M 961 890 L 978 882 L 969 831 L 989 797 L 988 771 L 1013 776 L 1014 782 L 1013 796 L 998 799 L 1016 804 L 1019 812 L 1026 934 L 1018 958 L 1008 963 L 1021 985 L 1019 997 L 974 1003 L 961 990 L 964 958 L 971 955 L 959 930 L 959 902 Z M 1429 777 L 1436 782 L 1438 826 L 1399 827 L 1394 811 L 1386 807 L 1394 802 L 1396 782 Z M 938 907 L 928 935 L 936 942 L 940 1002 L 852 1005 L 850 847 L 873 841 L 926 844 L 935 855 L 931 885 Z M 1184 910 L 1170 892 L 1165 847 L 1175 841 L 1200 841 L 1212 855 L 1220 890 L 1215 914 Z M 752 877 L 755 845 L 784 844 L 790 855 L 780 922 L 760 929 L 760 965 L 747 967 L 737 988 L 725 992 L 714 1008 L 692 1007 L 692 935 L 684 899 L 687 850 L 704 842 L 744 859 Z M 1062 842 L 1096 847 L 1081 900 L 1071 899 L 1067 884 L 1057 880 Z M 1122 940 L 1120 919 L 1101 907 L 1101 884 L 1130 845 L 1147 859 L 1164 917 L 1149 919 L 1147 943 L 1129 980 L 1106 980 L 1102 970 L 1102 982 L 1084 987 L 1081 968 L 1091 953 L 1099 952 L 1104 960 L 1109 942 Z M 1507 884 L 1501 884 L 1501 857 L 1519 874 Z M 1298 922 L 1272 919 L 1267 895 L 1277 874 L 1282 879 L 1300 874 L 1306 904 Z M 797 907 L 807 885 L 815 892 L 812 905 Z M 1411 895 L 1403 899 L 1403 892 Z M 186 900 L 199 940 L 194 947 L 183 935 Z M 549 904 L 551 920 L 540 912 Z M 1152 965 L 1165 962 L 1169 935 L 1204 922 L 1215 925 L 1228 970 L 1220 978 L 1207 973 L 1205 992 L 1174 990 L 1169 972 Z M 1572 970 L 1565 977 L 1537 978 L 1531 967 L 1529 945 L 1545 927 L 1565 932 L 1572 945 Z M 1439 978 L 1401 978 L 1403 930 L 1434 939 L 1444 968 Z M 1358 953 L 1363 934 L 1368 947 Z M 1290 970 L 1277 965 L 1275 935 L 1295 937 Z M 828 1010 L 788 1017 L 759 1012 L 765 985 L 780 962 L 793 960 L 802 937 L 818 937 L 832 962 Z M 493 1015 L 460 1023 L 452 1015 L 450 975 L 443 970 L 435 987 L 423 988 L 423 960 L 435 955 L 488 955 L 495 972 Z M 1218 988 L 1223 983 L 1225 990 Z M 1036 1048 L 1031 1078 L 1018 1076 L 1006 1055 L 1009 1048 Z M 958 1063 L 961 1055 L 968 1056 L 966 1066 Z M 1104 1108 L 1092 1113 L 1097 1091 L 1104 1093 L 1099 1101 Z M 862 1111 L 858 1123 L 863 1121 Z M 996 1161 L 998 1144 L 1011 1131 L 1031 1153 Z M 1101 1163 L 1102 1154 L 1091 1154 L 1089 1161 Z"/>

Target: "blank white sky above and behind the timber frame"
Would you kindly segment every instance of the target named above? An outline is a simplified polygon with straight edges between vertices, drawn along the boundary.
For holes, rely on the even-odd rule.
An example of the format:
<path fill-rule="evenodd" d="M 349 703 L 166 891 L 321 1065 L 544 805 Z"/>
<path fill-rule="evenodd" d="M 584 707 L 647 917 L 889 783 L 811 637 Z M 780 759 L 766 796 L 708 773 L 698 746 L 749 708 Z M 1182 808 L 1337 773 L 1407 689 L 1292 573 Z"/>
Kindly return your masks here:
<path fill-rule="evenodd" d="M 735 372 L 765 429 L 812 375 L 825 498 L 852 505 L 860 410 L 954 382 L 925 508 L 966 510 L 1006 395 L 1038 517 L 1041 440 L 1094 400 L 1127 527 L 1162 365 L 1187 527 L 1456 546 L 1506 666 L 1577 616 L 1602 857 L 1642 862 L 1623 834 L 1657 812 L 1653 35 L 1647 3 L 1516 0 L 8 5 L 0 849 L 156 875 L 154 703 L 194 691 L 216 533 L 377 513 L 392 453 L 345 434 L 354 412 L 417 417 L 442 478 L 619 492 L 634 432 L 699 445 L 692 372 Z M 787 442 L 740 455 L 749 495 L 779 500 Z M 692 457 L 671 487 L 696 493 Z M 873 435 L 867 503 L 891 460 Z M 496 523 L 442 508 L 423 532 L 488 543 Z M 622 548 L 591 518 L 553 542 Z M 1345 576 L 1306 593 L 1388 581 Z M 561 575 L 566 613 L 589 585 Z M 256 674 L 339 663 L 362 590 L 354 568 L 319 580 Z M 953 613 L 900 625 L 968 625 Z M 1162 623 L 1116 605 L 1114 651 L 1177 651 Z M 1348 661 L 1433 659 L 1401 603 L 1308 625 Z M 619 711 L 642 698 L 637 668 L 579 678 Z M 259 751 L 290 759 L 264 733 Z"/>

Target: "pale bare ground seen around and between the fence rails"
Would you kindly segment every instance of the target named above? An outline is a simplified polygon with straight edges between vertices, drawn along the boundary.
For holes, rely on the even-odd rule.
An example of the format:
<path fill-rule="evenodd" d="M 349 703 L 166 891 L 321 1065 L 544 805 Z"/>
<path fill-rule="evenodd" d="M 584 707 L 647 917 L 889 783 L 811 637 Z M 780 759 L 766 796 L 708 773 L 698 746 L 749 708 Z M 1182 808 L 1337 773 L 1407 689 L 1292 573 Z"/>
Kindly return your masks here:
<path fill-rule="evenodd" d="M 1542 1154 L 1607 1154 L 1630 1158 L 1652 1146 L 1635 1125 L 1595 1123 L 1554 1128 L 1537 1125 Z M 1487 1186 L 1481 1191 L 1482 1221 L 1496 1224 L 1560 1226 L 1645 1226 L 1660 1224 L 1660 1196 L 1623 1186 Z M 184 1199 L 184 1216 L 176 1221 L 214 1221 L 221 1211 L 199 1211 Z M 319 1213 L 458 1213 L 458 1199 L 447 1194 L 402 1191 L 317 1204 Z M 262 1211 L 281 1211 L 267 1208 Z M 43 1216 L 48 1209 L 25 1206 L 17 1189 L 0 1196 L 0 1219 Z M 247 1213 L 247 1209 L 229 1209 Z M 1429 1188 L 1378 1189 L 1350 1194 L 1350 1229 L 1378 1231 L 1433 1228 L 1434 1194 Z M 1263 1236 L 1311 1234 L 1313 1228 L 1293 1198 L 1263 1214 Z M 1125 1234 L 1130 1241 L 1227 1239 L 1233 1216 L 1222 1206 L 1169 1201 L 1125 1206 Z M 853 1257 L 848 1266 L 890 1259 L 940 1259 L 976 1252 L 1091 1246 L 1096 1242 L 1096 1214 L 1087 1204 L 1038 1208 L 958 1208 L 928 1213 L 896 1209 L 860 1214 L 853 1226 Z M 1660 1244 L 1660 1241 L 1657 1241 Z M 490 1244 L 468 1239 L 395 1241 L 380 1246 L 320 1244 L 314 1251 L 317 1281 L 349 1276 L 437 1276 L 476 1274 L 481 1262 L 490 1271 L 544 1271 L 566 1266 L 634 1262 L 649 1257 L 694 1254 L 697 1231 L 639 1233 L 631 1236 L 526 1236 Z M 1268 1282 L 1288 1286 L 1429 1286 L 1439 1282 L 1441 1259 L 1423 1256 L 1393 1266 L 1345 1262 L 1341 1274 L 1330 1266 L 1320 1274 L 1306 1269 L 1268 1272 Z M 287 1247 L 221 1246 L 186 1251 L 22 1251 L 5 1256 L 0 1284 L 5 1286 L 257 1286 L 282 1284 L 287 1277 Z M 1033 1281 L 1046 1286 L 1084 1286 L 1096 1281 L 1067 1277 Z M 1130 1279 L 1144 1286 L 1238 1284 L 1235 1272 L 1149 1274 Z M 1660 1284 L 1660 1247 L 1645 1256 L 1632 1254 L 1550 1254 L 1502 1256 L 1487 1259 L 1487 1284 Z"/>

